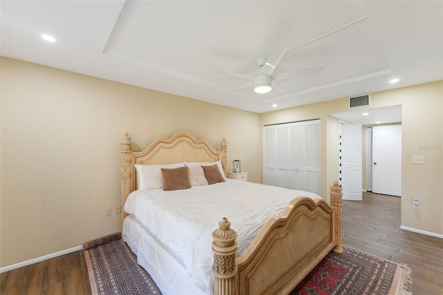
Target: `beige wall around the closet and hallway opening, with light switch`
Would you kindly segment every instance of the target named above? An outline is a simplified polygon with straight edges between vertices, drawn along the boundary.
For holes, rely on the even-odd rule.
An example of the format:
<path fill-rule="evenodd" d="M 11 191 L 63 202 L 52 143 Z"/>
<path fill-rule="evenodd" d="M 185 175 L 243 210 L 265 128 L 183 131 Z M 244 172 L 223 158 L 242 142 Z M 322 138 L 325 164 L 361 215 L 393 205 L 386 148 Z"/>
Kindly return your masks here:
<path fill-rule="evenodd" d="M 443 234 L 443 81 L 371 93 L 371 107 L 401 105 L 402 175 L 401 225 Z M 370 107 L 366 108 L 370 109 Z M 347 98 L 262 114 L 262 125 L 320 118 L 322 120 L 322 194 L 338 176 L 337 122 L 327 116 L 347 111 Z M 414 165 L 413 155 L 424 155 L 425 165 Z M 419 199 L 420 210 L 412 200 Z"/>

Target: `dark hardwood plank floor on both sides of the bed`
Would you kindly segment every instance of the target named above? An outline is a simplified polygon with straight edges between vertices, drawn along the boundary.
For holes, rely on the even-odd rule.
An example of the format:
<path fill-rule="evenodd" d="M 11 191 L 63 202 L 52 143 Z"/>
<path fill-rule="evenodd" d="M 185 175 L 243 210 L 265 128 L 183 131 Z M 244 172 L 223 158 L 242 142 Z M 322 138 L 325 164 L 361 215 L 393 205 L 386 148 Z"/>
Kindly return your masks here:
<path fill-rule="evenodd" d="M 363 193 L 363 202 L 343 201 L 343 244 L 413 271 L 415 295 L 443 294 L 443 239 L 400 229 L 400 198 Z M 0 274 L 0 294 L 89 295 L 83 251 Z"/>

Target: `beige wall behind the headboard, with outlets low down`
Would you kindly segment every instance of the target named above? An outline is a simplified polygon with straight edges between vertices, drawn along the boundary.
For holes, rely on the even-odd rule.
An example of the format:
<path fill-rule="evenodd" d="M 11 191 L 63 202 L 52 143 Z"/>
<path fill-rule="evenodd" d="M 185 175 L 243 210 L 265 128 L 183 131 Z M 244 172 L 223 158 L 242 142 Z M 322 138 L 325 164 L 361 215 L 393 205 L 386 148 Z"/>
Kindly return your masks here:
<path fill-rule="evenodd" d="M 1 57 L 1 267 L 120 231 L 120 137 L 191 132 L 262 174 L 260 116 Z M 112 206 L 111 216 L 105 207 Z"/>

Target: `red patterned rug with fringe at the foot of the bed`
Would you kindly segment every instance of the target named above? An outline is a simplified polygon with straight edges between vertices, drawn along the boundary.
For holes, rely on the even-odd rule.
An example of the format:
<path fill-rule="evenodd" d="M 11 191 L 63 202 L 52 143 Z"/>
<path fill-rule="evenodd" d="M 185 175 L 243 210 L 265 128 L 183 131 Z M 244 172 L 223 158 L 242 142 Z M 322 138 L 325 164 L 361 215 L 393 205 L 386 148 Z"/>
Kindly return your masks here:
<path fill-rule="evenodd" d="M 343 254 L 327 254 L 290 294 L 406 295 L 411 283 L 406 265 L 343 246 Z"/>

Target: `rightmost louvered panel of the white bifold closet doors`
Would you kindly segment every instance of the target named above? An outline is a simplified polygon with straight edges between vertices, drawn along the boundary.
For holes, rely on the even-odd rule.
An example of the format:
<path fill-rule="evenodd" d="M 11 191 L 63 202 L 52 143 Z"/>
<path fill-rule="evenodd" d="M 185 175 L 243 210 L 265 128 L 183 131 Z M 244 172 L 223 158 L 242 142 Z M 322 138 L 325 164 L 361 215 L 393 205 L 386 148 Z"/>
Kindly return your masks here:
<path fill-rule="evenodd" d="M 305 122 L 305 177 L 303 190 L 320 195 L 320 120 Z"/>

